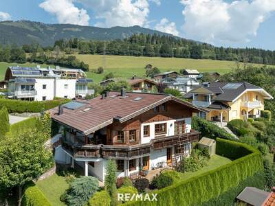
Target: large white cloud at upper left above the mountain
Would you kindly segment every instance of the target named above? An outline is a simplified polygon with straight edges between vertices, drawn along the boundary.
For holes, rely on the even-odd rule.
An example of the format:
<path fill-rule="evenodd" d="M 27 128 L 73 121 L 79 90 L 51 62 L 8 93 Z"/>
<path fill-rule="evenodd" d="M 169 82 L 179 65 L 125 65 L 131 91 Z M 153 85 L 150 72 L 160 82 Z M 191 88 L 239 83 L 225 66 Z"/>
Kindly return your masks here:
<path fill-rule="evenodd" d="M 83 8 L 74 5 L 74 0 L 45 0 L 39 4 L 43 10 L 55 15 L 58 23 L 89 25 L 89 15 Z"/>

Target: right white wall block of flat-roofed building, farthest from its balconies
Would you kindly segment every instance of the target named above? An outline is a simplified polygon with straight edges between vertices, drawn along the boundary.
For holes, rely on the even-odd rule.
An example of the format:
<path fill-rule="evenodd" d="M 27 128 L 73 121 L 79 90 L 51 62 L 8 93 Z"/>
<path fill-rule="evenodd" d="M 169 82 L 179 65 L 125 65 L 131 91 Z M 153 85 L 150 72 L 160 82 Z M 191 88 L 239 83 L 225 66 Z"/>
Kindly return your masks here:
<path fill-rule="evenodd" d="M 55 97 L 72 99 L 76 97 L 76 80 L 56 79 Z"/>

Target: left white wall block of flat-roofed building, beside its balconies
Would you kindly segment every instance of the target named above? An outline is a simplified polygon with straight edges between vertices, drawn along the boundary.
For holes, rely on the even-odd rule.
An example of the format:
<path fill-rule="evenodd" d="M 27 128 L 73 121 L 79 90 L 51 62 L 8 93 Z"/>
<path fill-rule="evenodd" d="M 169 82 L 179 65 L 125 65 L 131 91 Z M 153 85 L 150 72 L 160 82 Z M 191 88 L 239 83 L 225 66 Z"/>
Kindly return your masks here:
<path fill-rule="evenodd" d="M 43 85 L 46 85 L 46 89 L 43 89 Z M 34 84 L 34 89 L 37 91 L 34 100 L 42 101 L 54 99 L 54 78 L 37 78 Z"/>

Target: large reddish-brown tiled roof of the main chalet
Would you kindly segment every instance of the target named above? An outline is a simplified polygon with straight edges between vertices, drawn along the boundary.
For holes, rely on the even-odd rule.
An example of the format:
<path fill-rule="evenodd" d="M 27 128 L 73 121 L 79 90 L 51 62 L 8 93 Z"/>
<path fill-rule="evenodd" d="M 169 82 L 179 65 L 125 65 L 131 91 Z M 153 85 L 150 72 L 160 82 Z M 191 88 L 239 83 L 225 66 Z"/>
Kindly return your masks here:
<path fill-rule="evenodd" d="M 136 98 L 139 98 L 139 100 L 135 100 Z M 122 98 L 120 92 L 110 92 L 106 99 L 98 97 L 92 100 L 77 100 L 85 104 L 74 110 L 63 107 L 63 114 L 61 115 L 58 115 L 58 107 L 50 110 L 50 113 L 52 119 L 56 122 L 61 122 L 88 135 L 112 124 L 115 120 L 125 122 L 169 100 L 189 106 L 195 111 L 208 112 L 206 109 L 199 108 L 171 95 L 126 93 L 126 97 Z"/>

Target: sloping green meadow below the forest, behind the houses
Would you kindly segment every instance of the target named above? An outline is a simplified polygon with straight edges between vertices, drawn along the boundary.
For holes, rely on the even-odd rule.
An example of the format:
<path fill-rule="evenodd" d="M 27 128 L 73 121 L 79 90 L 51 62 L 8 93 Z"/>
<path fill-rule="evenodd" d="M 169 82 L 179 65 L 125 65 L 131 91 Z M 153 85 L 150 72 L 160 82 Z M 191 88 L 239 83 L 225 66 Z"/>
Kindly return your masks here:
<path fill-rule="evenodd" d="M 76 54 L 76 58 L 89 64 L 90 71 L 87 77 L 100 82 L 106 73 L 112 72 L 115 78 L 131 78 L 133 75 L 142 77 L 145 73 L 145 65 L 151 64 L 159 68 L 160 71 L 179 71 L 180 69 L 197 69 L 200 72 L 214 72 L 221 74 L 227 73 L 236 68 L 236 62 L 221 60 L 195 60 L 190 58 L 161 58 L 161 57 L 134 57 L 134 56 L 102 56 L 102 55 L 81 55 Z M 93 69 L 102 67 L 105 64 L 104 73 L 92 72 Z M 5 70 L 8 66 L 36 66 L 34 63 L 18 64 L 0 62 L 0 80 L 3 80 Z M 47 65 L 41 65 L 47 67 Z"/>

